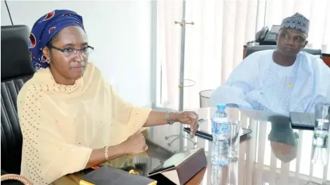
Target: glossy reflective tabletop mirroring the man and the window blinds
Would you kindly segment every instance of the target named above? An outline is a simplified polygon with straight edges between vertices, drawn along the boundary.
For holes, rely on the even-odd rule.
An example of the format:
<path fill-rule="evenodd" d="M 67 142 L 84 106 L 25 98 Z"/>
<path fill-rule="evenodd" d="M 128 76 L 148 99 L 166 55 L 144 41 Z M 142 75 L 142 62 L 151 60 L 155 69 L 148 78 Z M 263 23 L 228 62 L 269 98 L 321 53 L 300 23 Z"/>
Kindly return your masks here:
<path fill-rule="evenodd" d="M 202 108 L 196 109 L 196 111 L 200 118 L 209 119 L 214 109 Z M 240 144 L 240 157 L 235 162 L 237 168 L 228 170 L 228 167 L 224 167 L 216 171 L 218 173 L 216 176 L 223 176 L 223 181 L 224 179 L 236 180 L 237 184 L 240 185 L 308 184 L 308 182 L 322 184 L 322 182 L 330 179 L 328 165 L 319 167 L 310 163 L 312 131 L 293 130 L 290 127 L 288 117 L 281 117 L 278 114 L 236 108 L 230 108 L 228 112 L 231 119 L 238 119 L 242 126 L 252 129 L 252 135 L 249 140 Z M 285 131 L 283 128 L 286 128 Z M 203 122 L 200 129 L 211 131 L 210 121 Z M 184 137 L 186 133 L 174 141 L 175 137 L 165 139 L 165 137 L 175 135 L 180 131 L 182 131 L 180 124 L 177 123 L 172 126 L 149 128 L 149 131 L 146 132 L 147 138 L 156 145 L 149 147 L 148 155 L 132 157 L 131 163 L 143 163 L 146 167 L 145 171 L 149 171 L 156 168 L 160 161 L 165 161 L 167 156 L 170 156 L 174 151 L 184 151 L 195 146 L 201 146 L 205 148 L 207 167 L 191 179 L 188 184 L 211 184 L 212 173 L 214 176 L 210 163 L 212 143 L 196 137 L 193 138 L 193 143 Z M 274 135 L 275 139 L 272 139 Z M 298 135 L 296 142 L 292 140 L 294 135 Z"/>

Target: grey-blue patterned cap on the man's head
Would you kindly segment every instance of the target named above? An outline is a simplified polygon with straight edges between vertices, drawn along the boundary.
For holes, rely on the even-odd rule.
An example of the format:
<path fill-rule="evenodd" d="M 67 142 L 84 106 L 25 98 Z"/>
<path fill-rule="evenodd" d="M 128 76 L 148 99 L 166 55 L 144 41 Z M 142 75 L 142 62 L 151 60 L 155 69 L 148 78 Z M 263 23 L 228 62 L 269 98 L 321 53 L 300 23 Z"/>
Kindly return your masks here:
<path fill-rule="evenodd" d="M 308 31 L 310 29 L 310 20 L 308 20 L 300 13 L 295 13 L 291 17 L 287 17 L 282 21 L 281 29 L 282 28 L 298 29 L 308 35 Z"/>

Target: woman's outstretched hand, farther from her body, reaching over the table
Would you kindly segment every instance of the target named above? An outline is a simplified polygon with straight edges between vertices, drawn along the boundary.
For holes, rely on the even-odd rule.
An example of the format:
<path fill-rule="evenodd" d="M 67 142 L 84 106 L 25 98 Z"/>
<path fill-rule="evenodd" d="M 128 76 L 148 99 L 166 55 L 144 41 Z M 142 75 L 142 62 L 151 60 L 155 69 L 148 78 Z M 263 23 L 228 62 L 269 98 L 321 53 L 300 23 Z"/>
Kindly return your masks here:
<path fill-rule="evenodd" d="M 178 121 L 181 124 L 187 124 L 190 126 L 191 135 L 195 135 L 200 124 L 198 123 L 198 114 L 196 112 L 185 111 L 179 113 Z"/>

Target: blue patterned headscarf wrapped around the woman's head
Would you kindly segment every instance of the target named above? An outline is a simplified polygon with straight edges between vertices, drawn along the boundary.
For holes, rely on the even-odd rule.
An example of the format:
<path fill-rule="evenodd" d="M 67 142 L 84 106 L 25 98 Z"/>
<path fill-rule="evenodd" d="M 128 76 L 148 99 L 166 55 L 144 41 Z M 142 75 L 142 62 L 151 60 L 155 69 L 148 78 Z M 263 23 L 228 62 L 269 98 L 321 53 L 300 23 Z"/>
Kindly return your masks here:
<path fill-rule="evenodd" d="M 29 36 L 29 50 L 34 68 L 48 68 L 43 47 L 46 47 L 55 34 L 69 26 L 78 26 L 85 31 L 83 17 L 71 10 L 53 10 L 34 23 Z"/>

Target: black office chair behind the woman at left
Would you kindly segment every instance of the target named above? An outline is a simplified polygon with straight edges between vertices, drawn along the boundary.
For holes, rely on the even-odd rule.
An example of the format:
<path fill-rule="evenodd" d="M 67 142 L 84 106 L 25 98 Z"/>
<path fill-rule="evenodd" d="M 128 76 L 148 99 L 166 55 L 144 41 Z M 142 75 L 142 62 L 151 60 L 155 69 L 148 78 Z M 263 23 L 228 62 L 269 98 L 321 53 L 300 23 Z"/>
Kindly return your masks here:
<path fill-rule="evenodd" d="M 16 101 L 23 84 L 35 73 L 29 34 L 25 25 L 1 27 L 1 181 L 8 177 L 4 174 L 20 174 L 22 133 Z M 1 184 L 8 182 L 21 184 Z"/>

